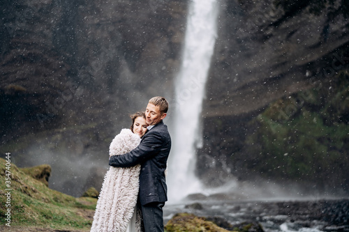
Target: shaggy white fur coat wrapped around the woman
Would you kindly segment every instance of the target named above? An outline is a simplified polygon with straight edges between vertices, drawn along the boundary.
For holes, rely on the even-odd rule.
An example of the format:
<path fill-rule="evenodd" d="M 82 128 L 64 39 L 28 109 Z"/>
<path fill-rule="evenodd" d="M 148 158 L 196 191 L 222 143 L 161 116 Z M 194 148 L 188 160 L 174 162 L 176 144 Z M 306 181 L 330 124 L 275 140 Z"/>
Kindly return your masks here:
<path fill-rule="evenodd" d="M 140 144 L 140 137 L 129 129 L 122 129 L 112 140 L 109 155 L 128 153 Z M 110 167 L 99 194 L 91 232 L 124 232 L 136 208 L 139 190 L 140 164 L 135 167 Z M 136 231 L 140 231 L 140 213 L 136 217 Z"/>

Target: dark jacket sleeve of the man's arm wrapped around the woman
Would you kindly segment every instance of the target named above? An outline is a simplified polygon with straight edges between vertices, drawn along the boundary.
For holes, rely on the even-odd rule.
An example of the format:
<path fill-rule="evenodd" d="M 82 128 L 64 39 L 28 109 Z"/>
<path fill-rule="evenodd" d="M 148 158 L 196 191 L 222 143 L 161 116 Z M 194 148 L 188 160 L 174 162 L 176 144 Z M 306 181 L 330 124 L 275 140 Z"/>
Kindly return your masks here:
<path fill-rule="evenodd" d="M 162 146 L 161 133 L 149 131 L 144 135 L 144 139 L 137 148 L 124 155 L 110 157 L 109 165 L 112 167 L 133 167 L 154 157 L 160 152 Z"/>

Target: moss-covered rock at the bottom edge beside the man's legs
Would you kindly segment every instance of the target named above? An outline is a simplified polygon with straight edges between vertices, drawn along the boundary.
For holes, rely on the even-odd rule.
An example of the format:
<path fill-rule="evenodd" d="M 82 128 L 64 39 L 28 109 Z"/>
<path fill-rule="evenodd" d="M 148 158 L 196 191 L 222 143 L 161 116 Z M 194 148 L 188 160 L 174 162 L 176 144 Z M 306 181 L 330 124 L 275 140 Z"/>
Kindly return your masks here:
<path fill-rule="evenodd" d="M 227 230 L 217 226 L 213 222 L 207 221 L 205 217 L 196 217 L 191 213 L 178 213 L 168 221 L 165 226 L 168 232 L 228 232 Z"/>

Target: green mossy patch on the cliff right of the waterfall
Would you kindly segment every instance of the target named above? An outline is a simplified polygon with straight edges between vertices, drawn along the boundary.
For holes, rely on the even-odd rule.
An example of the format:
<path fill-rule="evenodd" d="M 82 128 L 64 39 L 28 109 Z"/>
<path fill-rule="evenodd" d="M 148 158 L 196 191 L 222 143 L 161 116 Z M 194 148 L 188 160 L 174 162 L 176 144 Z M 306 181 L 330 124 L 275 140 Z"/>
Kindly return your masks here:
<path fill-rule="evenodd" d="M 277 100 L 251 125 L 258 126 L 246 137 L 246 144 L 251 145 L 247 153 L 255 154 L 246 164 L 248 169 L 281 180 L 306 177 L 318 183 L 331 176 L 339 177 L 334 181 L 346 180 L 349 77 L 345 73 L 322 88 Z"/>

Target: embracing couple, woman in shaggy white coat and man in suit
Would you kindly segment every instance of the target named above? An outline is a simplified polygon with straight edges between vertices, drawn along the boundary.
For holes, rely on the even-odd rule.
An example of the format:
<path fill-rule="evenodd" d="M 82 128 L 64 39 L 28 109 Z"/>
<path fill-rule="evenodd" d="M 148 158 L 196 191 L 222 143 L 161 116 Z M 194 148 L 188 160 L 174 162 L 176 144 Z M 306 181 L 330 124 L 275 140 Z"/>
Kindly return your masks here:
<path fill-rule="evenodd" d="M 171 148 L 163 123 L 168 101 L 149 100 L 145 112 L 131 116 L 130 129 L 112 140 L 110 170 L 105 174 L 91 232 L 163 231 L 167 201 L 165 169 Z"/>

